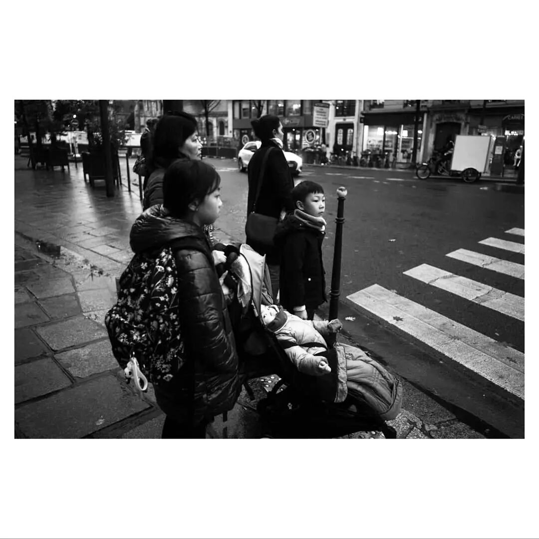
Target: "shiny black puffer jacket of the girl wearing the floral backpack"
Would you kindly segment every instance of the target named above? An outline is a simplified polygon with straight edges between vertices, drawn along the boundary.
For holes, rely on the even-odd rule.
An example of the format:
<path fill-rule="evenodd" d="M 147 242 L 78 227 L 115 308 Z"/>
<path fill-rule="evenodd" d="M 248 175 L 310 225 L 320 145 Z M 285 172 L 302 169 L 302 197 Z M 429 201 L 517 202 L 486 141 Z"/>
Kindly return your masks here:
<path fill-rule="evenodd" d="M 165 414 L 178 421 L 192 414 L 198 421 L 232 409 L 241 390 L 238 355 L 202 229 L 157 205 L 136 219 L 130 233 L 135 254 L 162 250 L 172 240 L 178 290 L 171 293 L 171 309 L 179 320 L 186 362 L 170 383 L 154 385 L 155 396 Z"/>

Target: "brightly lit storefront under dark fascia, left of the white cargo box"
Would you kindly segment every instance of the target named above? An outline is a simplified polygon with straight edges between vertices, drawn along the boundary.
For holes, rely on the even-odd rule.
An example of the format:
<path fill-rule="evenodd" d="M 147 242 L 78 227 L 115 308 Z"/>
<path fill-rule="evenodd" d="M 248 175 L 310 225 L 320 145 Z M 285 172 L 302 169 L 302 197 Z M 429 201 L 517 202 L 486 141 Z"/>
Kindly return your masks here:
<path fill-rule="evenodd" d="M 418 124 L 417 148 L 423 136 L 423 112 Z M 414 114 L 365 114 L 362 151 L 371 154 L 389 154 L 390 162 L 408 163 L 412 158 Z"/>

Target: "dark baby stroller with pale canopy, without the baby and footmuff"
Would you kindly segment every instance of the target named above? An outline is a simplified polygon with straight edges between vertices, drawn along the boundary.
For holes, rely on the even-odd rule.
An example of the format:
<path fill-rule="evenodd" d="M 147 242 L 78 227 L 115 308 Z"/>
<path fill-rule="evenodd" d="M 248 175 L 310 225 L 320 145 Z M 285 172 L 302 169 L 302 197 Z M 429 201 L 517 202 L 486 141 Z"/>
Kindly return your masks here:
<path fill-rule="evenodd" d="M 242 244 L 227 256 L 223 275 L 225 296 L 236 338 L 240 375 L 251 400 L 250 381 L 277 375 L 279 380 L 261 399 L 257 410 L 269 438 L 334 438 L 358 431 L 381 431 L 396 438 L 396 431 L 364 403 L 348 395 L 343 402 L 322 400 L 306 384 L 274 333 L 261 320 L 262 305 L 274 303 L 265 257 Z M 334 342 L 328 342 L 333 347 Z M 307 378 L 313 379 L 316 377 Z"/>

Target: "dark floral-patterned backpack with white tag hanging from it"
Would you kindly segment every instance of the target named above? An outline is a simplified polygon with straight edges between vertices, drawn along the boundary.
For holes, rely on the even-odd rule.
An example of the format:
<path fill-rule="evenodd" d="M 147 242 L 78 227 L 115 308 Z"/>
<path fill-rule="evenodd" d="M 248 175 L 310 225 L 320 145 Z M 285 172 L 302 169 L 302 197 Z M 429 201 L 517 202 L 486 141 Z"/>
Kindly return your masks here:
<path fill-rule="evenodd" d="M 170 382 L 184 363 L 177 285 L 174 245 L 136 254 L 105 316 L 114 357 L 142 391 L 148 381 Z"/>

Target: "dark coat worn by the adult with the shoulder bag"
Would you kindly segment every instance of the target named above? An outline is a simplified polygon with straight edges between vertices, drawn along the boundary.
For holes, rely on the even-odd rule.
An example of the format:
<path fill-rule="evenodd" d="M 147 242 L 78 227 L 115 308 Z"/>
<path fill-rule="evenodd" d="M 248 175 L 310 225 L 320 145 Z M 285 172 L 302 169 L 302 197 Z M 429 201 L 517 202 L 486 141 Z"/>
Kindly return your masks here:
<path fill-rule="evenodd" d="M 277 149 L 272 149 L 277 148 Z M 255 151 L 251 161 L 247 166 L 249 192 L 247 195 L 247 215 L 253 211 L 254 199 L 257 194 L 258 178 L 262 167 L 262 160 L 267 151 L 271 150 L 266 162 L 266 171 L 262 178 L 260 196 L 255 210 L 257 213 L 269 217 L 279 218 L 281 210 L 286 212 L 294 210 L 294 201 L 292 200 L 292 189 L 294 189 L 294 180 L 290 174 L 288 163 L 283 151 L 277 146 L 277 143 L 268 140 L 262 143 L 260 149 Z M 278 248 L 267 247 L 259 244 L 252 238 L 247 238 L 249 244 L 255 251 L 266 255 L 268 264 L 279 264 L 280 253 Z"/>

